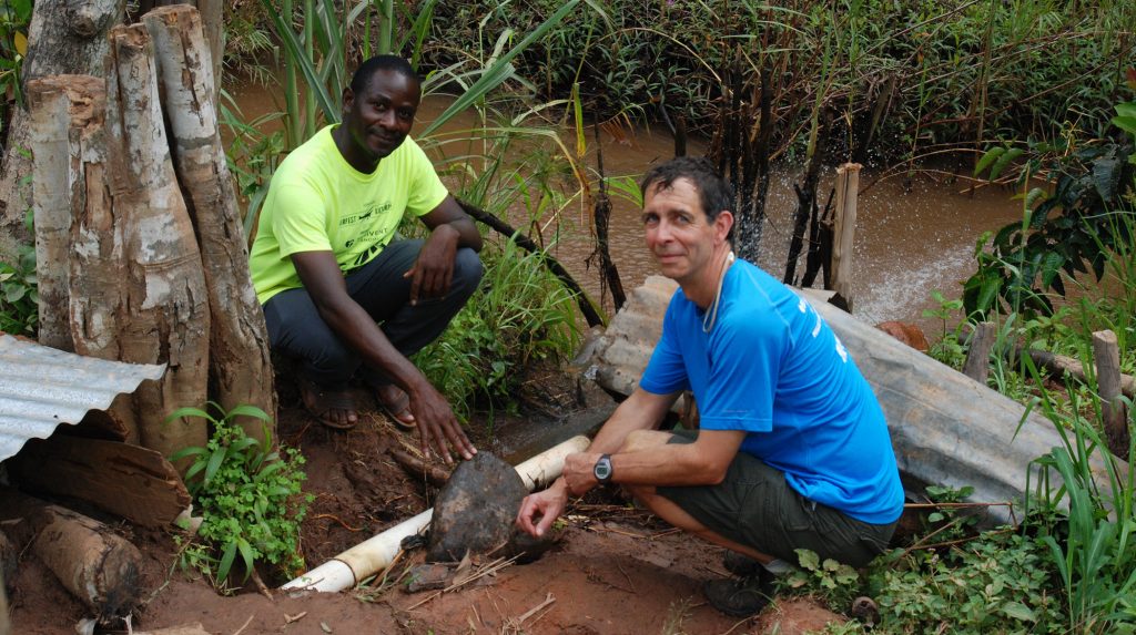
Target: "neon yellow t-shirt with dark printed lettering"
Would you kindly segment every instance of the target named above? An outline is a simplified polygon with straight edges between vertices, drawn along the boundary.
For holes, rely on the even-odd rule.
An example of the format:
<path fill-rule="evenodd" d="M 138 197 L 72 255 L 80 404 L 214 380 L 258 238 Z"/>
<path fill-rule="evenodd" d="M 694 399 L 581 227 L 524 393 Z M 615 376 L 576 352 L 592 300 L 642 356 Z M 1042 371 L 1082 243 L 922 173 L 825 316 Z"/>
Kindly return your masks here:
<path fill-rule="evenodd" d="M 249 256 L 260 304 L 302 286 L 292 254 L 331 251 L 346 273 L 383 251 L 404 213 L 427 214 L 449 194 L 412 138 L 365 175 L 340 154 L 333 128 L 292 151 L 273 175 Z"/>

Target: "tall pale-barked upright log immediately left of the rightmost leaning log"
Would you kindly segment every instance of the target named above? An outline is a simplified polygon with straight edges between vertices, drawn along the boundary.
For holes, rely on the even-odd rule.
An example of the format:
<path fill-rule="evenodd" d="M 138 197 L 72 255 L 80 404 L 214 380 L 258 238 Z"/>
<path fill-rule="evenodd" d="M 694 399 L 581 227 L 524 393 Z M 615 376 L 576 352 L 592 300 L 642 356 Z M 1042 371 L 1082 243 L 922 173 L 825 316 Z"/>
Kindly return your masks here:
<path fill-rule="evenodd" d="M 201 253 L 169 160 L 153 44 L 143 25 L 111 29 L 108 74 L 110 194 L 123 232 L 126 302 L 120 359 L 167 363 L 161 381 L 135 392 L 139 438 L 164 456 L 204 446 L 201 418 L 166 423 L 169 413 L 206 401 L 209 306 Z M 184 469 L 187 462 L 178 467 Z"/>

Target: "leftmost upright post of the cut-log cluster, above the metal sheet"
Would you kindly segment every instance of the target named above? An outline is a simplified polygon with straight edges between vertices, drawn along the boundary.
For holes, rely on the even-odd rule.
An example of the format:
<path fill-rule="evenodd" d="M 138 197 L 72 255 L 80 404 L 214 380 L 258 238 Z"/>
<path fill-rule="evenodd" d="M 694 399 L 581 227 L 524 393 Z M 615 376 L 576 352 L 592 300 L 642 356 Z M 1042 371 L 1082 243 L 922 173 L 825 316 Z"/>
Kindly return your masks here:
<path fill-rule="evenodd" d="M 106 116 L 103 82 L 51 76 L 27 83 L 33 161 L 35 269 L 40 344 L 73 352 L 69 319 L 70 230 L 75 195 L 84 188 L 83 141 Z"/>

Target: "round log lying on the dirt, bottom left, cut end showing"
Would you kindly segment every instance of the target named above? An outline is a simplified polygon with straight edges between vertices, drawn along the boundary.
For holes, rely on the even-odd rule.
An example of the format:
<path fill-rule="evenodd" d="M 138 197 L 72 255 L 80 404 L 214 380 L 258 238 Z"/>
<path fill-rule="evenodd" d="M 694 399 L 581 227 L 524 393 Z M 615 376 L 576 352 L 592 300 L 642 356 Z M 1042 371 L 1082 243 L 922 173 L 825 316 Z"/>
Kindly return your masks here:
<path fill-rule="evenodd" d="M 125 617 L 141 601 L 142 553 L 98 520 L 6 491 L 0 514 L 31 518 L 31 551 L 101 620 Z"/>

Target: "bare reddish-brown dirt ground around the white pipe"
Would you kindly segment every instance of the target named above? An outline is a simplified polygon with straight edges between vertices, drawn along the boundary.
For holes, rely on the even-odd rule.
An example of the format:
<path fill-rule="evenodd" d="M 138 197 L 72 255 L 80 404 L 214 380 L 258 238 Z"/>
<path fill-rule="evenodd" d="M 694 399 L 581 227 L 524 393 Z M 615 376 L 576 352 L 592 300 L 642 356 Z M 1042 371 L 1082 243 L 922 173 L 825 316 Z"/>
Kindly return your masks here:
<path fill-rule="evenodd" d="M 302 527 L 309 567 L 432 505 L 436 490 L 421 476 L 408 474 L 387 452 L 391 447 L 412 443 L 412 435 L 395 431 L 373 408 L 364 408 L 356 430 L 327 430 L 309 420 L 284 386 L 281 439 L 303 451 L 308 460 L 304 489 L 315 496 Z M 509 448 L 501 440 L 544 425 L 550 410 L 566 405 L 567 392 L 529 399 L 541 405 L 536 414 L 498 416 L 492 434 L 484 417 L 478 417 L 470 424 L 478 449 L 506 454 Z M 700 586 L 707 578 L 726 575 L 721 550 L 675 532 L 618 494 L 590 494 L 566 518 L 557 545 L 535 562 L 491 570 L 492 561 L 475 560 L 463 573 L 466 577 L 482 575 L 445 593 L 406 592 L 406 572 L 424 558 L 425 550 L 418 549 L 366 586 L 298 596 L 278 591 L 266 595 L 252 585 L 234 595 L 220 595 L 208 582 L 176 569 L 172 533 L 119 524 L 118 531 L 144 556 L 145 604 L 130 627 L 118 624 L 98 632 L 137 633 L 200 624 L 208 633 L 224 635 L 790 634 L 821 629 L 837 619 L 801 600 L 775 602 L 760 619 L 737 620 L 719 613 L 705 604 Z M 285 581 L 266 582 L 277 586 Z M 9 586 L 14 634 L 73 634 L 86 617 L 83 607 L 30 553 L 20 559 Z"/>

